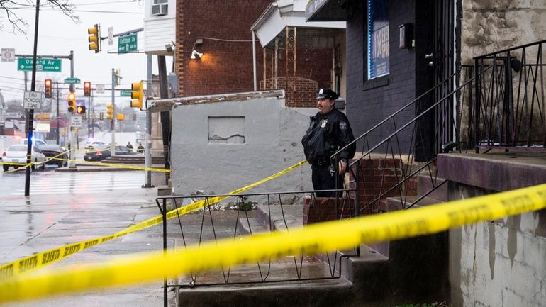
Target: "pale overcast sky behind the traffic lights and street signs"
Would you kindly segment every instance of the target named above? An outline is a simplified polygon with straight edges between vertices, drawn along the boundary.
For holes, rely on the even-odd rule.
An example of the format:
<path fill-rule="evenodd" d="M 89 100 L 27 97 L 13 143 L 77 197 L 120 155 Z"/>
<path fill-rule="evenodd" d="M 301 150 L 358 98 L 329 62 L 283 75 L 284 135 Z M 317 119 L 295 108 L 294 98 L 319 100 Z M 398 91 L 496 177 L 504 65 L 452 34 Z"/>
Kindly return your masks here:
<path fill-rule="evenodd" d="M 90 81 L 94 88 L 96 84 L 105 84 L 106 88 L 111 87 L 111 69 L 120 69 L 121 85 L 118 88 L 130 89 L 131 82 L 138 82 L 146 79 L 146 55 L 144 53 L 116 54 L 118 39 L 114 38 L 114 44 L 108 45 L 108 40 L 102 40 L 102 51 L 95 53 L 88 49 L 87 28 L 95 23 L 101 26 L 101 37 L 108 35 L 108 27 L 113 27 L 113 33 L 122 33 L 128 30 L 143 27 L 144 7 L 143 1 L 131 0 L 76 0 L 70 1 L 74 4 L 74 14 L 79 16 L 79 23 L 61 13 L 58 9 L 51 9 L 50 6 L 42 6 L 45 0 L 40 1 L 40 20 L 38 29 L 38 55 L 69 55 L 74 50 L 74 77 L 84 81 Z M 12 27 L 3 12 L 0 13 L 0 20 L 4 28 L 0 31 L 0 48 L 15 48 L 18 55 L 31 55 L 33 53 L 35 9 L 17 9 L 19 17 L 28 22 L 26 35 L 11 33 Z M 138 33 L 138 49 L 143 50 L 143 33 Z M 170 59 L 167 57 L 167 69 L 170 67 Z M 17 70 L 16 62 L 0 62 L 0 90 L 4 99 L 23 99 L 24 74 Z M 153 60 L 153 72 L 157 74 L 157 59 Z M 30 77 L 28 73 L 28 90 L 30 91 Z M 36 89 L 38 85 L 43 86 L 44 79 L 59 80 L 62 82 L 70 77 L 70 61 L 62 60 L 62 72 L 37 72 Z M 60 84 L 68 86 L 68 84 Z M 81 99 L 83 91 L 77 91 L 77 98 Z M 96 93 L 95 93 L 96 94 Z M 66 95 L 62 96 L 65 101 Z M 111 99 L 111 92 L 96 94 L 95 102 L 107 103 Z M 130 98 L 116 95 L 116 106 L 129 105 Z M 118 104 L 121 103 L 121 104 Z"/>

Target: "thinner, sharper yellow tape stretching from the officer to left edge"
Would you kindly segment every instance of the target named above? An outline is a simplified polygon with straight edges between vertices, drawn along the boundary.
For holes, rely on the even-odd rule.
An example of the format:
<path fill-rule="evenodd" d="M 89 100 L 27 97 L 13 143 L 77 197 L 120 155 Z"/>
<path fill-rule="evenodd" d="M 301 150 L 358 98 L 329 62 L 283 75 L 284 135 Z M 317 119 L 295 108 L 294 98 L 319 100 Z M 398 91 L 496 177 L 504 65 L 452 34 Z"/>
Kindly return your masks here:
<path fill-rule="evenodd" d="M 288 172 L 291 172 L 293 169 L 296 169 L 300 167 L 301 165 L 305 164 L 305 162 L 306 160 L 298 162 L 292 165 L 291 167 L 283 169 L 281 172 L 278 172 L 277 174 L 273 174 L 258 182 L 249 184 L 235 191 L 231 191 L 228 194 L 235 195 L 235 194 L 242 193 L 243 191 L 252 189 L 255 186 L 259 186 L 260 184 L 263 184 L 264 182 L 268 182 L 269 180 L 275 179 Z M 204 206 L 217 203 L 218 201 L 222 201 L 223 199 L 227 199 L 228 197 L 230 196 L 217 196 L 217 197 L 208 199 L 206 201 L 197 201 L 195 203 L 190 203 L 189 205 L 167 212 L 167 219 L 171 219 L 179 215 L 184 215 L 191 211 L 196 211 L 199 208 L 203 208 Z M 135 231 L 149 228 L 153 225 L 162 223 L 162 221 L 163 221 L 162 216 L 155 216 L 153 218 L 148 218 L 147 220 L 142 221 L 140 223 L 136 223 L 135 225 L 131 225 L 128 228 L 119 231 L 118 233 L 114 233 L 113 235 L 106 235 L 104 237 L 94 238 L 87 241 L 75 242 L 69 245 L 54 248 L 52 250 L 46 250 L 45 252 L 38 252 L 35 255 L 24 257 L 14 262 L 3 264 L 0 266 L 0 280 L 9 279 L 11 277 L 17 277 L 19 274 L 23 274 L 26 272 L 32 272 L 35 269 L 39 269 L 41 267 L 45 267 L 49 264 L 55 263 L 61 259 L 64 259 L 65 257 L 68 257 L 69 255 L 73 255 L 77 252 L 81 252 L 82 250 L 86 250 L 87 248 L 92 247 L 94 245 L 99 245 L 103 242 L 122 237 L 123 235 L 128 235 L 129 233 L 134 233 Z"/>

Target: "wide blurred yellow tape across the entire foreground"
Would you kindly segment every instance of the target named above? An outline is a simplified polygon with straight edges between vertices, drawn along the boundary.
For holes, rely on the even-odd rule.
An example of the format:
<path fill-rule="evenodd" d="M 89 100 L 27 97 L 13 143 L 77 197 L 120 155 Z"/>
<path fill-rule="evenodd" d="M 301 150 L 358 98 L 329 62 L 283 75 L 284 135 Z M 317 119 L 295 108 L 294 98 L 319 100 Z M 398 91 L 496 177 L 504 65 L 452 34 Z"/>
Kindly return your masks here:
<path fill-rule="evenodd" d="M 41 274 L 0 281 L 0 303 L 136 284 L 288 255 L 313 255 L 355 247 L 362 242 L 439 233 L 542 208 L 546 208 L 546 184 L 406 211 L 308 225 L 290 233 L 209 241 L 167 254 L 152 252 L 89 266 L 48 269 Z"/>

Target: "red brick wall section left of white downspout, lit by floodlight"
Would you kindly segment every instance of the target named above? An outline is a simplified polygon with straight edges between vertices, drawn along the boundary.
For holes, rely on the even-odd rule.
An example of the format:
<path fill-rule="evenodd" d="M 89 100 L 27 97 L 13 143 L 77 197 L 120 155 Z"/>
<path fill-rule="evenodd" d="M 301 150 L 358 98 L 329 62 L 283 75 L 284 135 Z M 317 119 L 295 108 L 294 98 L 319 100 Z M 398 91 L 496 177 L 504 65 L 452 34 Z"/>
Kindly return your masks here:
<path fill-rule="evenodd" d="M 177 54 L 174 71 L 179 76 L 179 96 L 252 91 L 252 33 L 250 26 L 269 0 L 178 0 Z M 196 38 L 204 38 L 189 57 Z M 212 40 L 216 38 L 221 40 Z M 229 40 L 229 41 L 228 41 Z M 237 41 L 233 41 L 237 40 Z M 256 43 L 257 59 L 262 57 Z M 257 62 L 258 69 L 261 63 Z"/>

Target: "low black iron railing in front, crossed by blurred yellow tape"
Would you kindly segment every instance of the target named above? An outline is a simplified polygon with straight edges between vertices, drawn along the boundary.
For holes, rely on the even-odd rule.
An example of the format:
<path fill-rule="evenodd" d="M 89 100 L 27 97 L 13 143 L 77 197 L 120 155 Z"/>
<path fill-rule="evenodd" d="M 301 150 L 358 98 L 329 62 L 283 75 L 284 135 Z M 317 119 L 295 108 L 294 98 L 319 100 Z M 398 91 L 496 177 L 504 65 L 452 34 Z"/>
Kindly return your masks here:
<path fill-rule="evenodd" d="M 329 190 L 347 194 L 349 190 Z M 221 203 L 217 200 L 222 199 Z M 294 203 L 306 203 L 310 211 L 319 204 L 315 191 L 295 191 L 260 194 L 226 194 L 226 195 L 193 195 L 168 196 L 156 199 L 163 216 L 163 247 L 167 250 L 167 241 L 174 242 L 175 248 L 186 248 L 187 245 L 201 245 L 208 240 L 233 238 L 241 235 L 255 235 L 264 232 L 290 231 L 302 227 L 302 206 Z M 178 208 L 189 203 L 201 202 L 197 211 L 179 215 Z M 261 203 L 260 211 L 256 209 Z M 315 222 L 332 219 L 351 218 L 357 215 L 355 202 L 348 198 L 330 199 L 334 216 L 325 218 L 316 215 Z M 290 210 L 296 207 L 296 210 Z M 173 223 L 167 223 L 167 212 L 177 210 Z M 275 211 L 273 214 L 272 212 Z M 320 210 L 319 210 L 320 211 Z M 262 212 L 261 218 L 256 216 Z M 318 212 L 318 211 L 317 211 Z M 325 212 L 325 211 L 321 211 Z M 272 216 L 277 216 L 274 221 Z M 291 216 L 291 218 L 288 218 Z M 267 220 L 267 221 L 266 221 Z M 260 223 L 261 221 L 261 223 Z M 171 287 L 184 288 L 196 286 L 215 286 L 225 284 L 259 284 L 284 281 L 310 281 L 320 279 L 338 279 L 341 277 L 341 261 L 345 257 L 357 255 L 357 249 L 345 252 L 344 255 L 333 252 L 325 255 L 294 255 L 289 259 L 270 260 L 236 267 L 224 267 L 214 272 L 192 273 L 179 280 L 167 283 L 165 280 L 164 295 Z"/>

